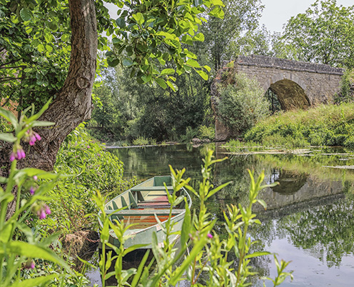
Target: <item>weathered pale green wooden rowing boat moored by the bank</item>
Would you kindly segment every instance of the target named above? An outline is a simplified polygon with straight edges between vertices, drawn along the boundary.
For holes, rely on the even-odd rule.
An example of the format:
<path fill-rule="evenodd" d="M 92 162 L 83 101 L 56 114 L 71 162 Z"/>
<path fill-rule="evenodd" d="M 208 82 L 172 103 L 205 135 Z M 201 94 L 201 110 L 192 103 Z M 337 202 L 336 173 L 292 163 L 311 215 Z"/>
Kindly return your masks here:
<path fill-rule="evenodd" d="M 166 183 L 167 191 L 163 183 Z M 110 214 L 112 222 L 115 222 L 115 220 L 121 222 L 123 220 L 124 226 L 134 224 L 126 231 L 125 235 L 130 234 L 132 237 L 124 243 L 125 248 L 135 244 L 147 244 L 141 248 L 151 248 L 153 232 L 156 232 L 158 243 L 163 243 L 165 234 L 155 216 L 158 217 L 163 226 L 166 225 L 171 206 L 168 203 L 167 192 L 173 192 L 171 176 L 154 176 L 124 191 L 106 203 L 105 210 L 107 214 Z M 187 204 L 191 208 L 191 196 L 189 196 L 186 189 L 181 188 L 177 193 L 177 196 L 186 196 Z M 173 231 L 178 231 L 182 228 L 183 218 L 186 214 L 185 206 L 186 201 L 173 206 L 171 222 L 176 223 L 173 226 Z M 124 209 L 119 210 L 121 208 Z M 102 222 L 100 224 L 102 226 Z M 120 243 L 113 230 L 110 230 L 109 234 L 109 242 L 119 246 Z M 173 235 L 169 239 L 170 242 L 173 242 L 177 238 L 178 236 Z"/>

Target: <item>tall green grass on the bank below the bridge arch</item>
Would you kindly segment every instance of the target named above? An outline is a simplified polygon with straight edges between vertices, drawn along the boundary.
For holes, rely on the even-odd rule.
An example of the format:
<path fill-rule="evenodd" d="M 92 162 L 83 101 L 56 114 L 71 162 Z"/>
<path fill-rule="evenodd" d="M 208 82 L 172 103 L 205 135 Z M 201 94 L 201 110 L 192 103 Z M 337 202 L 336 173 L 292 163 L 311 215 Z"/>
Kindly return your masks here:
<path fill-rule="evenodd" d="M 259 144 L 295 142 L 295 146 L 354 148 L 354 104 L 320 105 L 270 116 L 246 132 L 244 139 Z"/>

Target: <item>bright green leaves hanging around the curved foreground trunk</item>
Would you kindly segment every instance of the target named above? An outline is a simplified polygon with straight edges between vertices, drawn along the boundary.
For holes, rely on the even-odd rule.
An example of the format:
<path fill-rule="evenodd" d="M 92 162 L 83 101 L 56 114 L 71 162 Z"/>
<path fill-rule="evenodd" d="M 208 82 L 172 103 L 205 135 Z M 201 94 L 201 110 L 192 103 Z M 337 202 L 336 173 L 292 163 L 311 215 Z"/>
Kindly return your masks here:
<path fill-rule="evenodd" d="M 72 2 L 74 3 L 74 1 Z M 198 26 L 208 16 L 223 17 L 221 0 L 96 0 L 98 49 L 108 64 L 131 68 L 139 83 L 157 83 L 176 90 L 171 76 L 196 70 L 207 79 L 186 46 L 203 41 Z M 112 19 L 105 4 L 118 6 Z M 64 84 L 70 62 L 71 26 L 66 0 L 0 1 L 0 97 L 17 101 L 22 109 L 41 106 Z M 107 46 L 111 36 L 114 49 Z M 173 67 L 166 67 L 173 61 Z M 9 101 L 7 101 L 9 103 Z"/>

